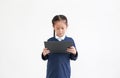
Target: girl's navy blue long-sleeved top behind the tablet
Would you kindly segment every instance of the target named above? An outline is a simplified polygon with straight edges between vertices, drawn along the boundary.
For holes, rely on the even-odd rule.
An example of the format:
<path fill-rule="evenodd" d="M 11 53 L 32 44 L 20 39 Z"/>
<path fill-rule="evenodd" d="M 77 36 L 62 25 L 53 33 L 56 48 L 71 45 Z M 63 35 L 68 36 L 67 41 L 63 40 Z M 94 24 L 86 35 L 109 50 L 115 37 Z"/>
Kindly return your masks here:
<path fill-rule="evenodd" d="M 48 41 L 58 41 L 55 37 L 49 38 Z M 73 46 L 76 48 L 74 40 L 70 37 L 65 37 L 62 41 L 73 42 Z M 47 60 L 47 75 L 46 78 L 70 78 L 71 67 L 70 59 L 76 60 L 78 57 L 78 52 L 76 55 L 70 53 L 50 53 L 43 56 L 42 59 Z"/>

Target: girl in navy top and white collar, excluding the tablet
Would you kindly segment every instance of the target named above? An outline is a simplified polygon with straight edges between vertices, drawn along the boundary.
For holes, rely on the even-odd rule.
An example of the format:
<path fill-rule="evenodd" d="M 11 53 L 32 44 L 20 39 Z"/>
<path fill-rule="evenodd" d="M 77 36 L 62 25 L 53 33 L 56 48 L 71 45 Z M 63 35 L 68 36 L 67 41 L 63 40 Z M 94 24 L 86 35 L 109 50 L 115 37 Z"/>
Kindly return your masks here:
<path fill-rule="evenodd" d="M 50 53 L 50 50 L 47 48 L 43 49 L 42 59 L 48 59 L 46 78 L 70 78 L 70 59 L 76 60 L 78 52 L 74 40 L 65 35 L 68 27 L 67 18 L 64 15 L 56 15 L 52 20 L 52 24 L 54 37 L 49 38 L 48 41 L 71 41 L 73 42 L 73 46 L 67 48 L 68 53 Z"/>

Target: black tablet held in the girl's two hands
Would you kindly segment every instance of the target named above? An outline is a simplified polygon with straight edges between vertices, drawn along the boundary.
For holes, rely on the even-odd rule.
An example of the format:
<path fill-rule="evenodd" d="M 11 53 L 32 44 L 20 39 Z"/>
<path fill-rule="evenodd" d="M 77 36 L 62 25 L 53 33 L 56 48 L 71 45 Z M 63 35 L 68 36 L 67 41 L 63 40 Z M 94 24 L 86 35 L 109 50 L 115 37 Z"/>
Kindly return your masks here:
<path fill-rule="evenodd" d="M 73 46 L 73 43 L 68 41 L 47 41 L 44 42 L 44 45 L 51 53 L 66 53 L 67 48 Z"/>

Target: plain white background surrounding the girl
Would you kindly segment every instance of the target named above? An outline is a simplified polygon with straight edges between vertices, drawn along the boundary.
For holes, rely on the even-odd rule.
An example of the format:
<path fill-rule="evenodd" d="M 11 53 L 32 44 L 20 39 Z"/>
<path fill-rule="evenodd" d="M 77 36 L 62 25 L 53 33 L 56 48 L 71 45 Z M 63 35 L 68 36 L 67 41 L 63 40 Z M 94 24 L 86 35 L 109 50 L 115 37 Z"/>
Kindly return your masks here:
<path fill-rule="evenodd" d="M 79 52 L 71 78 L 120 78 L 120 0 L 0 0 L 0 78 L 45 78 L 56 14 Z"/>

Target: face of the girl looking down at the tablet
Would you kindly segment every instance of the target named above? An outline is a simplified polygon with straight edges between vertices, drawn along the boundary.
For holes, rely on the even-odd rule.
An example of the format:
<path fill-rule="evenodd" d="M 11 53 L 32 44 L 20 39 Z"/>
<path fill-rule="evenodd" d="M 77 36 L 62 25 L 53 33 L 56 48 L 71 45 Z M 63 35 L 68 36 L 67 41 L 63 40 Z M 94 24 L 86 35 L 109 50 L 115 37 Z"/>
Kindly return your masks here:
<path fill-rule="evenodd" d="M 54 24 L 54 30 L 57 36 L 62 37 L 67 29 L 65 21 L 56 21 Z"/>

